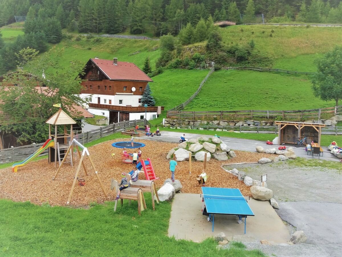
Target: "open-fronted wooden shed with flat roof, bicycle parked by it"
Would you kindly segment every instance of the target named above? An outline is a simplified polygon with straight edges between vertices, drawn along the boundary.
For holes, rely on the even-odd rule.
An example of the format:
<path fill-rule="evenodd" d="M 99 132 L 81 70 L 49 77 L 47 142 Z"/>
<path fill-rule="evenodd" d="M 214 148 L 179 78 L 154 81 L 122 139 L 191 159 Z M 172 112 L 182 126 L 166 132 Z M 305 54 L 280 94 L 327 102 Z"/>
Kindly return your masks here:
<path fill-rule="evenodd" d="M 292 121 L 276 121 L 279 126 L 279 144 L 293 144 L 295 140 L 301 140 L 306 137 L 307 143 L 317 141 L 320 145 L 321 128 L 325 124 L 292 122 Z"/>

